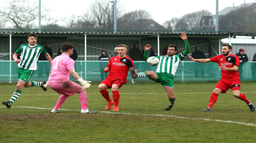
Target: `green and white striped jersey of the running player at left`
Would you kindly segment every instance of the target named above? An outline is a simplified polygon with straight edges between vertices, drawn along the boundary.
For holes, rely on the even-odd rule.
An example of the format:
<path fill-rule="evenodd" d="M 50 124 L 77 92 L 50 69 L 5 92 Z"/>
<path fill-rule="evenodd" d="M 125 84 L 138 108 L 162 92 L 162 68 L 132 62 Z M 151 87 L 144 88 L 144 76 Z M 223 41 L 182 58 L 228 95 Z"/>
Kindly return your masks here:
<path fill-rule="evenodd" d="M 28 70 L 37 69 L 37 61 L 40 53 L 46 54 L 46 50 L 43 46 L 35 45 L 29 46 L 29 44 L 22 44 L 15 51 L 16 54 L 20 54 L 20 63 L 18 63 L 19 68 L 24 68 Z"/>

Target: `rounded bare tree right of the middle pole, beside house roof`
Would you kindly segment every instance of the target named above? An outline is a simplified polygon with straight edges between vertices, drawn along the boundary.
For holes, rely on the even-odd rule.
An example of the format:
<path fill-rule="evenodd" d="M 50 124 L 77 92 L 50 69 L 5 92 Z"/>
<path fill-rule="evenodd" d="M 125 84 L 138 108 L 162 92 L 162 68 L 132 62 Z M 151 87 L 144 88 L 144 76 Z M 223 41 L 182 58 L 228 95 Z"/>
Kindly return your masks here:
<path fill-rule="evenodd" d="M 138 10 L 125 13 L 122 17 L 117 19 L 117 29 L 141 29 L 140 26 L 144 26 L 141 24 L 140 19 L 151 19 L 152 16 L 148 11 Z M 140 22 L 137 22 L 140 20 Z"/>

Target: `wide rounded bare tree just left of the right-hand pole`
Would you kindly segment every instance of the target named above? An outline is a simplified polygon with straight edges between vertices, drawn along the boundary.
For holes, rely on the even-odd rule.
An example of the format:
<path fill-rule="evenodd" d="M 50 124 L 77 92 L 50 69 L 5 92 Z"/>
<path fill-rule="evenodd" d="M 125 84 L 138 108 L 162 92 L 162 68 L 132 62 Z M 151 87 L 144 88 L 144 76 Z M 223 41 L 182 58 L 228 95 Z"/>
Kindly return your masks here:
<path fill-rule="evenodd" d="M 208 24 L 211 18 L 212 13 L 207 10 L 188 13 L 179 18 L 176 30 L 206 30 L 205 24 Z"/>

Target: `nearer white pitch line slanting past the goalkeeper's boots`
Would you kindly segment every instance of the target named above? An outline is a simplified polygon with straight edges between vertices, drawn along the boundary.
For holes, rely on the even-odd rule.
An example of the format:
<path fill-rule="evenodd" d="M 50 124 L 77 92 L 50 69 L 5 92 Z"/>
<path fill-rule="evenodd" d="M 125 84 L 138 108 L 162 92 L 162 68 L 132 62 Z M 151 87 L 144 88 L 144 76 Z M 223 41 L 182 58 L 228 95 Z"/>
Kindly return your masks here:
<path fill-rule="evenodd" d="M 2 107 L 0 107 L 2 108 Z M 52 110 L 52 108 L 38 108 L 38 107 L 12 107 L 12 108 L 32 108 L 32 109 L 45 109 L 45 110 Z M 80 110 L 68 110 L 68 109 L 60 109 L 60 111 L 80 111 Z M 216 121 L 216 122 L 222 122 L 222 123 L 234 123 L 234 124 L 241 124 L 241 125 L 250 125 L 250 126 L 256 126 L 256 124 L 248 124 L 243 122 L 234 122 L 234 121 L 224 121 L 224 120 L 212 120 L 212 119 L 206 119 L 206 118 L 188 118 L 188 117 L 179 117 L 179 116 L 173 116 L 173 115 L 161 115 L 161 114 L 138 114 L 138 113 L 119 113 L 119 112 L 109 112 L 109 111 L 96 111 L 101 113 L 108 113 L 108 114 L 127 114 L 127 115 L 144 115 L 144 116 L 160 116 L 160 117 L 172 117 L 172 118 L 180 118 L 180 119 L 194 119 L 194 120 L 206 120 L 206 121 Z"/>

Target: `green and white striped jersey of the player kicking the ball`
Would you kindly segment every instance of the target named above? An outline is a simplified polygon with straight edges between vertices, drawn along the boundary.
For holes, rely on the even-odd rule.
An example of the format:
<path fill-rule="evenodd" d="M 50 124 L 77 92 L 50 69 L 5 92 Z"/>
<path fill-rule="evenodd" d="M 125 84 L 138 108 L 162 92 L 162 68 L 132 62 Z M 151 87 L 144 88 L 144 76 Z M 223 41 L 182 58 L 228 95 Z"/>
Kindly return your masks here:
<path fill-rule="evenodd" d="M 183 60 L 185 56 L 183 53 L 181 53 L 171 57 L 167 55 L 161 55 L 157 56 L 157 58 L 159 58 L 159 64 L 156 68 L 157 73 L 168 73 L 175 75 L 180 61 Z"/>

